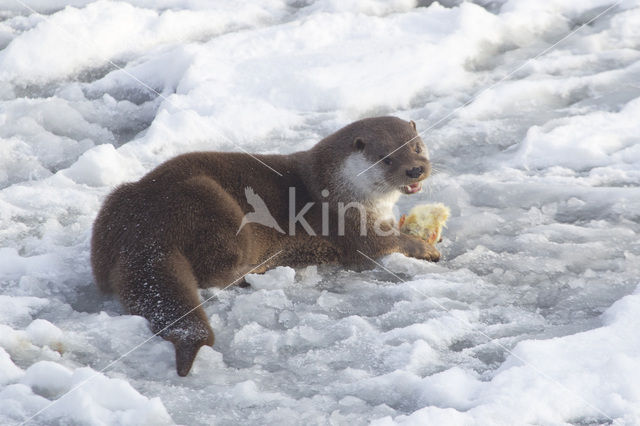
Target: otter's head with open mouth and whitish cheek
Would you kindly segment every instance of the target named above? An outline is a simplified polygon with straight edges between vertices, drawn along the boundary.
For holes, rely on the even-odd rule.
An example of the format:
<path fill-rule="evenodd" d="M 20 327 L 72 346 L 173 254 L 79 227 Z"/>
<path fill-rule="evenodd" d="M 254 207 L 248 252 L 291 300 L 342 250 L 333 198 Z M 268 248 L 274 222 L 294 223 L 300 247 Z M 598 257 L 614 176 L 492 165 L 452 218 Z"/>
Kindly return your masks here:
<path fill-rule="evenodd" d="M 398 192 L 415 194 L 422 189 L 431 163 L 413 121 L 377 117 L 354 124 L 343 168 L 353 192 L 375 198 Z"/>

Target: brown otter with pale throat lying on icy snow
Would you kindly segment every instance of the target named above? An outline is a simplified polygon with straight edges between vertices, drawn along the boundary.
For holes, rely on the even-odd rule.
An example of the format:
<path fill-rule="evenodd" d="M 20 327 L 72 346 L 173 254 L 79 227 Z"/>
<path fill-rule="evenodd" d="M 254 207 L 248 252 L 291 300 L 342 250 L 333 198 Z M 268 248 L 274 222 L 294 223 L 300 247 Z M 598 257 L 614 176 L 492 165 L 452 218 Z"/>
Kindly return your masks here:
<path fill-rule="evenodd" d="M 356 121 L 289 155 L 183 154 L 107 197 L 91 239 L 95 282 L 173 343 L 185 376 L 214 341 L 199 288 L 278 265 L 362 269 L 393 252 L 437 261 L 392 212 L 430 171 L 415 123 L 395 117 Z"/>

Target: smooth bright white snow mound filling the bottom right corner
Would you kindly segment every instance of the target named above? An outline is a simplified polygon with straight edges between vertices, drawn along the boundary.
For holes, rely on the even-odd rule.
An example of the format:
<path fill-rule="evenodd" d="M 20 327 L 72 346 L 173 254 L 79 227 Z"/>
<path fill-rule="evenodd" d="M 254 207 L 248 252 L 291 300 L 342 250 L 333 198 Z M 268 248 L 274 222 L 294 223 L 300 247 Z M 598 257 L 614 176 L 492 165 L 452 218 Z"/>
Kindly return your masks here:
<path fill-rule="evenodd" d="M 546 424 L 559 417 L 638 424 L 637 377 L 629 372 L 640 367 L 639 309 L 640 289 L 605 311 L 600 328 L 520 342 L 488 382 L 458 367 L 427 376 L 418 386 L 426 408 L 373 424 Z"/>

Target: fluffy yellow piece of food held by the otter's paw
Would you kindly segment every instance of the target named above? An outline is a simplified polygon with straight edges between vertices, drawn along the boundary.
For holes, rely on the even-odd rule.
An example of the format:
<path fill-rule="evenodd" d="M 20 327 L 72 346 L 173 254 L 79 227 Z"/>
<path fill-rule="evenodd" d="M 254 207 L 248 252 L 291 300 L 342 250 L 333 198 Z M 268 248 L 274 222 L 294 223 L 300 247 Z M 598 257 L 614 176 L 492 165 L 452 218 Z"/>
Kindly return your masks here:
<path fill-rule="evenodd" d="M 409 214 L 403 215 L 398 225 L 401 232 L 435 244 L 440 241 L 442 227 L 446 228 L 450 213 L 449 207 L 442 203 L 422 204 L 409 210 Z"/>

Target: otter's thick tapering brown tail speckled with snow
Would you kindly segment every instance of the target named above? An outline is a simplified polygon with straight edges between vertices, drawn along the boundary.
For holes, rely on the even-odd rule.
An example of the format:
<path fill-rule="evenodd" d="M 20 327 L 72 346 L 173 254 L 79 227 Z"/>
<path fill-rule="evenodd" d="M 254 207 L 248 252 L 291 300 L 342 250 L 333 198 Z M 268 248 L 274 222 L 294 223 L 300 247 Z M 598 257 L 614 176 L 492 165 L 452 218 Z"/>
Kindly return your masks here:
<path fill-rule="evenodd" d="M 129 312 L 145 317 L 154 334 L 173 343 L 177 373 L 186 376 L 200 347 L 214 342 L 191 265 L 179 252 L 136 258 L 125 262 L 116 281 L 120 300 Z"/>

